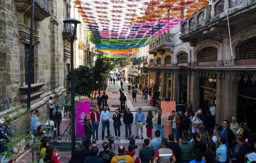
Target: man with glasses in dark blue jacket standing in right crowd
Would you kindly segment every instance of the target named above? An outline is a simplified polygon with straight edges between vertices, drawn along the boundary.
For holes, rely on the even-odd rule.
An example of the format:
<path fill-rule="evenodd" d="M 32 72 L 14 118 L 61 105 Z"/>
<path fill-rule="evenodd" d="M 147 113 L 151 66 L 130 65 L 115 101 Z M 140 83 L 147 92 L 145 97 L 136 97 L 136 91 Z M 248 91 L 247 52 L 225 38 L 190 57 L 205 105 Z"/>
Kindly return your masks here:
<path fill-rule="evenodd" d="M 234 135 L 233 135 L 232 130 L 229 127 L 227 127 L 227 125 L 228 125 L 228 120 L 224 120 L 222 122 L 222 126 L 220 126 L 218 128 L 218 130 L 219 130 L 219 136 L 224 137 L 225 140 L 226 140 L 226 142 L 225 142 L 225 145 L 227 146 L 227 160 L 226 160 L 226 163 L 229 163 L 229 161 L 230 161 L 230 157 L 229 157 L 230 149 L 233 146 L 232 140 L 233 140 Z"/>

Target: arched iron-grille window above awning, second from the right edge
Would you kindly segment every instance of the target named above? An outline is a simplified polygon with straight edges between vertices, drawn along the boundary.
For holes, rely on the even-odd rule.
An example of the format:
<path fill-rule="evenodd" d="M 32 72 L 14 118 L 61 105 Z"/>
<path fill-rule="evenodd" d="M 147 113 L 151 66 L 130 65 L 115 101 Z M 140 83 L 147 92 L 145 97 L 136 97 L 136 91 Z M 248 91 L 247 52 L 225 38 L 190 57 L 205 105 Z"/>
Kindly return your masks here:
<path fill-rule="evenodd" d="M 197 53 L 197 62 L 217 61 L 218 49 L 215 47 L 205 47 Z"/>

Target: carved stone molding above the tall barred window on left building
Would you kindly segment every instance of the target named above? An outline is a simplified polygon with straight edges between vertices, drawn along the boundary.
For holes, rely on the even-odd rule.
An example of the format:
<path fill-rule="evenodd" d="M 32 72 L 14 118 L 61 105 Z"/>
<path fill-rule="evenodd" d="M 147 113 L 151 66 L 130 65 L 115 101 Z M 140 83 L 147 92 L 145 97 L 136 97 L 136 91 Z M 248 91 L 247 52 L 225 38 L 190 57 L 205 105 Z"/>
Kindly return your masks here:
<path fill-rule="evenodd" d="M 18 28 L 19 41 L 29 44 L 30 28 L 28 28 L 22 23 L 19 23 L 18 25 L 19 25 L 19 28 Z M 38 33 L 39 33 L 38 31 L 33 30 L 33 45 L 36 45 L 36 46 L 38 46 L 40 43 Z"/>

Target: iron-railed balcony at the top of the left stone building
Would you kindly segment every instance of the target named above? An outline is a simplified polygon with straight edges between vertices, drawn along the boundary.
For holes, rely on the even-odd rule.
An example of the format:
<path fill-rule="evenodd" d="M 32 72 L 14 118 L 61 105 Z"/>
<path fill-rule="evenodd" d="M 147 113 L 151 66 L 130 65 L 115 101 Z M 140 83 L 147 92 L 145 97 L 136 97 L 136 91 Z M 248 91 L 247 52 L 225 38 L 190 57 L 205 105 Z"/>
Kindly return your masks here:
<path fill-rule="evenodd" d="M 31 15 L 31 0 L 14 0 L 16 8 L 19 12 L 26 12 Z M 50 16 L 50 0 L 35 0 L 34 1 L 34 19 L 42 21 Z"/>

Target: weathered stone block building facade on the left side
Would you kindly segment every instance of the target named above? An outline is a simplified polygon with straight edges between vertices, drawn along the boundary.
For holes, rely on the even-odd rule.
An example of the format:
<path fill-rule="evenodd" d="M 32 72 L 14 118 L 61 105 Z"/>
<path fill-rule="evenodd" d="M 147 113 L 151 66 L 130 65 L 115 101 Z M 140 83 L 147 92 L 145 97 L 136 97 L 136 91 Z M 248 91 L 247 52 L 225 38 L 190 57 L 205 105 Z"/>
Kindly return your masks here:
<path fill-rule="evenodd" d="M 71 54 L 63 20 L 70 17 L 70 3 L 35 0 L 31 109 L 39 109 L 41 115 L 48 115 L 49 96 L 57 100 L 68 86 L 65 75 L 70 69 Z M 31 1 L 1 0 L 0 10 L 1 119 L 3 114 L 11 115 L 17 107 L 26 106 Z"/>

